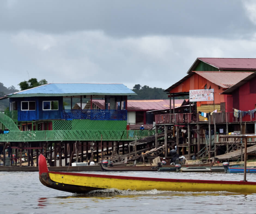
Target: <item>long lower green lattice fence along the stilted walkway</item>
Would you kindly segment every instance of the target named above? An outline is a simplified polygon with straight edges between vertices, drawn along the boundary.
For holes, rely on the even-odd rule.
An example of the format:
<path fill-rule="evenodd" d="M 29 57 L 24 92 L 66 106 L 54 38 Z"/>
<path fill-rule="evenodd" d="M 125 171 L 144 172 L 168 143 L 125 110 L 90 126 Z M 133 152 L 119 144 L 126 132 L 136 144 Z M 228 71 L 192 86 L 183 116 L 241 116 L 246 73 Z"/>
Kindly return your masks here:
<path fill-rule="evenodd" d="M 50 130 L 9 131 L 0 134 L 0 142 L 67 141 L 67 140 L 135 140 L 154 135 L 154 130 Z"/>

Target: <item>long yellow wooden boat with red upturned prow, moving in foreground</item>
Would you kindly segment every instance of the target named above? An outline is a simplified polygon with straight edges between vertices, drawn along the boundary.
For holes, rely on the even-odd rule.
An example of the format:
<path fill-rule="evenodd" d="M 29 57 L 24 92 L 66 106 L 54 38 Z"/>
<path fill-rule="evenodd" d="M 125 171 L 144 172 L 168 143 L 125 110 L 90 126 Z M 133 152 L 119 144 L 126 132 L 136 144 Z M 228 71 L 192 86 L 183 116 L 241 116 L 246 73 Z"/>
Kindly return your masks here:
<path fill-rule="evenodd" d="M 256 182 L 248 181 L 165 179 L 54 172 L 48 170 L 43 155 L 39 156 L 39 180 L 47 187 L 71 193 L 87 193 L 92 190 L 104 190 L 109 188 L 118 190 L 156 189 L 189 192 L 228 191 L 234 193 L 256 193 Z"/>

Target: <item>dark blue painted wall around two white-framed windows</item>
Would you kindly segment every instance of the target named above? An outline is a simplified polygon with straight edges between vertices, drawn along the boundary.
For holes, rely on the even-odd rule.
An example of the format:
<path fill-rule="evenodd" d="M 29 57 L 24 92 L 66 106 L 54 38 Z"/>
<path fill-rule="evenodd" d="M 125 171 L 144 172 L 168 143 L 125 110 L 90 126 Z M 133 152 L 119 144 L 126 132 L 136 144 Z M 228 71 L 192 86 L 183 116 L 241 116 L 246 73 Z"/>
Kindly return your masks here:
<path fill-rule="evenodd" d="M 59 101 L 59 110 L 43 111 L 43 101 Z M 63 97 L 17 97 L 10 98 L 10 102 L 17 101 L 18 121 L 32 121 L 39 119 L 62 119 Z M 21 111 L 21 101 L 36 101 L 36 110 Z"/>

